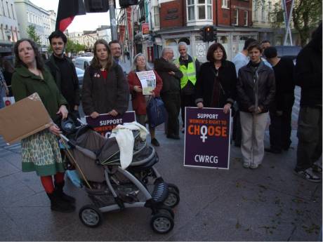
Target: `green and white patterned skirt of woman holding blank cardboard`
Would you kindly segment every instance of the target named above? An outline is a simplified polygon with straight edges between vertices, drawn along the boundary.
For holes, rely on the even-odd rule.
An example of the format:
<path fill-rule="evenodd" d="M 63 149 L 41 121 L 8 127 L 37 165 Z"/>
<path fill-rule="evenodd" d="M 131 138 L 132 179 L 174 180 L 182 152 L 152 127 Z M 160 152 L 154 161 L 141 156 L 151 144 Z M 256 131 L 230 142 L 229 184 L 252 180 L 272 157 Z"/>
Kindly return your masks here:
<path fill-rule="evenodd" d="M 64 172 L 58 139 L 48 129 L 30 135 L 21 141 L 22 171 L 36 171 L 37 175 L 55 175 Z"/>

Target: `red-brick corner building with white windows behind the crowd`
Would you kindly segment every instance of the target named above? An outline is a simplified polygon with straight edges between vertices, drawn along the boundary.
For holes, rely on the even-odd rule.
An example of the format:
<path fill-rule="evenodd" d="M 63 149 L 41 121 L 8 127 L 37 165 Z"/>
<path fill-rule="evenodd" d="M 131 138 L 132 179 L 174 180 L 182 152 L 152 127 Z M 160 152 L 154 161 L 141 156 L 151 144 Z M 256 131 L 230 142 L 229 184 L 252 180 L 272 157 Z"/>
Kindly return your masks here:
<path fill-rule="evenodd" d="M 145 23 L 149 34 L 143 34 Z M 217 41 L 229 60 L 242 51 L 245 39 L 258 39 L 258 29 L 252 27 L 252 0 L 141 0 L 133 11 L 136 53 L 150 60 L 170 47 L 178 57 L 178 43 L 184 41 L 188 53 L 205 62 L 211 45 L 202 41 L 200 29 L 205 25 L 217 29 Z"/>

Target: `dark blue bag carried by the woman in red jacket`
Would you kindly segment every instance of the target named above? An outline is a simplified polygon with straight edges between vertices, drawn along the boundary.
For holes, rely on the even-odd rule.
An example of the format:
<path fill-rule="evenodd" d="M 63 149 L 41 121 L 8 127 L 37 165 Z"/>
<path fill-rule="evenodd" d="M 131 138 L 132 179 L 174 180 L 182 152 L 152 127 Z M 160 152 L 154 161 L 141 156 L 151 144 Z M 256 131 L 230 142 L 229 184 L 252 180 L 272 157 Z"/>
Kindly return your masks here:
<path fill-rule="evenodd" d="M 166 121 L 166 109 L 161 98 L 150 98 L 147 104 L 147 116 L 152 128 Z"/>

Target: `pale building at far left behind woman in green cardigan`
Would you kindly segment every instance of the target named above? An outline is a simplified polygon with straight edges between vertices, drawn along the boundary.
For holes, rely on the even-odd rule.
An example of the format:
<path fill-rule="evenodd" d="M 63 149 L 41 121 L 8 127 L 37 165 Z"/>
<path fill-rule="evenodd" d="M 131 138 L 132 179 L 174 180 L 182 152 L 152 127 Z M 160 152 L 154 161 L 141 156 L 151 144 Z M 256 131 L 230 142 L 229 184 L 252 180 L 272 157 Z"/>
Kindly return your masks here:
<path fill-rule="evenodd" d="M 11 55 L 13 43 L 20 39 L 13 0 L 0 1 L 0 55 Z"/>

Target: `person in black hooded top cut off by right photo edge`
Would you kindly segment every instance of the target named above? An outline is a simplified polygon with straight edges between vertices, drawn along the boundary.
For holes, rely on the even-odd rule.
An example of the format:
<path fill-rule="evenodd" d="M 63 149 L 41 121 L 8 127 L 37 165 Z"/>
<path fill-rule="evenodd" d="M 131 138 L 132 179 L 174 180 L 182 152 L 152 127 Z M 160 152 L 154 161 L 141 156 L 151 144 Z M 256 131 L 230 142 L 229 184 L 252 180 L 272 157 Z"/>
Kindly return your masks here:
<path fill-rule="evenodd" d="M 322 155 L 322 24 L 297 56 L 296 85 L 302 90 L 294 172 L 310 182 L 320 182 L 313 171 L 322 173 L 322 166 L 315 164 Z"/>

